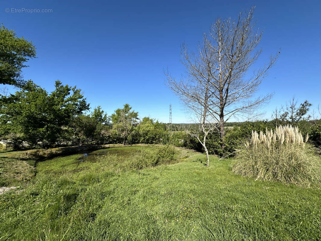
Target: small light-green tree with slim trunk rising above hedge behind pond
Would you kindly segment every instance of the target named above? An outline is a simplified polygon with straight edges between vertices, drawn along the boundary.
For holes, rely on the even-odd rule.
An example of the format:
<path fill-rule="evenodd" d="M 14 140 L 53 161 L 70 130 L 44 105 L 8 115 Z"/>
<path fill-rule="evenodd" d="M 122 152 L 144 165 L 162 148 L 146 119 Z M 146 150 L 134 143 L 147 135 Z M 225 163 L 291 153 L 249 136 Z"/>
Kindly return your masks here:
<path fill-rule="evenodd" d="M 117 109 L 111 115 L 113 130 L 123 138 L 123 144 L 126 144 L 128 136 L 132 133 L 134 124 L 138 122 L 138 112 L 131 111 L 129 104 L 124 104 L 123 109 Z"/>

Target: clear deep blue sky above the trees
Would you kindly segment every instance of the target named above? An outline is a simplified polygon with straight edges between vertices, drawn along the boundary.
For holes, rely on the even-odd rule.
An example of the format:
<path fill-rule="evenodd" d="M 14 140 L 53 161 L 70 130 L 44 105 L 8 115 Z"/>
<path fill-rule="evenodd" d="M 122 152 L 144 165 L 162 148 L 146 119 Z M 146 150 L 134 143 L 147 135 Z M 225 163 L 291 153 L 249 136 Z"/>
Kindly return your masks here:
<path fill-rule="evenodd" d="M 257 66 L 281 48 L 260 94 L 274 92 L 264 109 L 270 118 L 294 94 L 299 102 L 321 104 L 320 1 L 8 1 L 0 3 L 0 22 L 29 38 L 37 57 L 23 69 L 49 92 L 55 80 L 77 85 L 91 107 L 108 114 L 129 103 L 140 117 L 173 123 L 189 118 L 164 85 L 164 69 L 180 77 L 180 45 L 195 49 L 217 17 L 236 18 L 256 5 L 254 19 L 263 30 Z M 9 13 L 5 9 L 9 8 Z M 52 9 L 19 13 L 12 9 Z M 16 11 L 16 10 L 13 10 Z"/>

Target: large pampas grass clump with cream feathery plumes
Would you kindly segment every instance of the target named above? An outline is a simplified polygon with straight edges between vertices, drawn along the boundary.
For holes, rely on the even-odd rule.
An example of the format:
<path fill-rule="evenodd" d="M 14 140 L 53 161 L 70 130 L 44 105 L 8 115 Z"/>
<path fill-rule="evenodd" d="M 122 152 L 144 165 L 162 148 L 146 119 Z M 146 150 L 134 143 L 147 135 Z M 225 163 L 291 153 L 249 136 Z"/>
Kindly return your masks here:
<path fill-rule="evenodd" d="M 252 131 L 250 141 L 239 150 L 232 164 L 236 174 L 256 180 L 279 181 L 299 187 L 321 183 L 320 158 L 306 144 L 297 127 L 291 125 L 266 128 L 265 133 Z"/>

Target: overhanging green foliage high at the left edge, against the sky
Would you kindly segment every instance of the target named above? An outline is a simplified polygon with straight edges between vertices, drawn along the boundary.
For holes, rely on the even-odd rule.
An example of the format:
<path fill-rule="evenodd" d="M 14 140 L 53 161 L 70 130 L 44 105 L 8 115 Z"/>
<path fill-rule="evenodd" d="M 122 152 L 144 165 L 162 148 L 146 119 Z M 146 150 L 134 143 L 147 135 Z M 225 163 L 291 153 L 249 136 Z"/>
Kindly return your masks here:
<path fill-rule="evenodd" d="M 25 62 L 36 57 L 31 41 L 18 38 L 13 30 L 0 25 L 0 83 L 22 87 L 25 81 L 21 72 Z"/>

